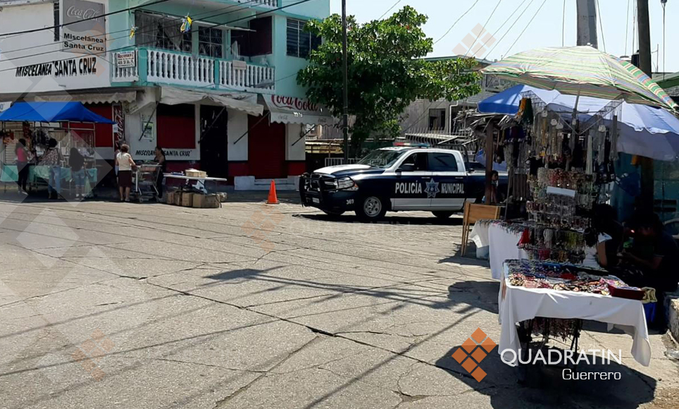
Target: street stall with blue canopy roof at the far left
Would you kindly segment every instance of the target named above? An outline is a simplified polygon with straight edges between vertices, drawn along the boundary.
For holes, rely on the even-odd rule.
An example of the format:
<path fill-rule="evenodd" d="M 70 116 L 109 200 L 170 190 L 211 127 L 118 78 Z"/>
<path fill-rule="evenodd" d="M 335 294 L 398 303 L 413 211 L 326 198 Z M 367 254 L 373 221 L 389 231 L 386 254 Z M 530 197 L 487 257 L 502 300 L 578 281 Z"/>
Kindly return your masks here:
<path fill-rule="evenodd" d="M 68 164 L 72 148 L 82 155 L 87 192 L 96 185 L 97 170 L 94 152 L 94 127 L 88 126 L 93 123 L 113 125 L 112 121 L 94 114 L 80 102 L 17 102 L 10 109 L 0 114 L 0 123 L 3 137 L 2 155 L 2 181 L 16 182 L 18 169 L 15 164 L 15 146 L 20 139 L 25 140 L 26 149 L 31 152 L 31 160 L 28 164 L 30 188 L 38 188 L 46 184 L 49 179 L 49 166 L 41 164 L 41 158 L 46 150 L 50 139 L 57 141 L 65 164 L 61 166 L 62 187 L 70 190 L 73 183 L 73 174 Z"/>

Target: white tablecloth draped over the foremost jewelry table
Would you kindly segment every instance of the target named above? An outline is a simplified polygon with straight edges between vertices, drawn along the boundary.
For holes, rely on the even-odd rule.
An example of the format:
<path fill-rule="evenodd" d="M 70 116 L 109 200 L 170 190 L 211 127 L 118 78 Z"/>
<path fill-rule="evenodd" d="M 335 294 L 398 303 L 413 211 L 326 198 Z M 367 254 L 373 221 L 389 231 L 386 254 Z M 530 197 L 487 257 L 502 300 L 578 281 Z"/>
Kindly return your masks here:
<path fill-rule="evenodd" d="M 503 266 L 503 276 L 509 275 Z M 646 316 L 641 301 L 573 291 L 556 291 L 547 288 L 511 286 L 506 279 L 500 284 L 498 295 L 499 322 L 502 325 L 499 353 L 514 350 L 518 355 L 516 323 L 535 317 L 590 319 L 614 324 L 633 337 L 632 356 L 645 367 L 651 362 L 651 343 L 646 328 Z M 616 351 L 613 351 L 616 353 Z M 617 356 L 617 353 L 616 353 Z M 507 353 L 509 360 L 513 354 Z M 514 362 L 516 364 L 516 362 Z"/>

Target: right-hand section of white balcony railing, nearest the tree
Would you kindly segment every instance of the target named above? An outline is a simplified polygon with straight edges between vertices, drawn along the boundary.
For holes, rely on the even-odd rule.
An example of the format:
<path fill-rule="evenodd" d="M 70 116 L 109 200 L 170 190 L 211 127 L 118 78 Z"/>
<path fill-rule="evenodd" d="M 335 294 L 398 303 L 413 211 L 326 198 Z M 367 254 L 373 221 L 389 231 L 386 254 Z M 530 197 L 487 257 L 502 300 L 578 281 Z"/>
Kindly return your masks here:
<path fill-rule="evenodd" d="M 264 94 L 275 92 L 275 68 L 243 61 L 220 61 L 219 85 L 234 90 L 253 89 Z"/>

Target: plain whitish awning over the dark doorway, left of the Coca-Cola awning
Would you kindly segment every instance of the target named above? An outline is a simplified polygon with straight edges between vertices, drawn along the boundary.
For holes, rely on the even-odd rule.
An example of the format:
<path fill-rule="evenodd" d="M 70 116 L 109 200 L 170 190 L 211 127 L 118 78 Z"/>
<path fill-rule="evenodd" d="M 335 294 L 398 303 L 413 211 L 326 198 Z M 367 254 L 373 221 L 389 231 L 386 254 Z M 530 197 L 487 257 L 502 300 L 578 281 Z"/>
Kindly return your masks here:
<path fill-rule="evenodd" d="M 254 116 L 260 116 L 264 112 L 264 107 L 257 104 L 256 94 L 198 92 L 175 87 L 161 87 L 159 102 L 168 105 L 213 102 Z"/>

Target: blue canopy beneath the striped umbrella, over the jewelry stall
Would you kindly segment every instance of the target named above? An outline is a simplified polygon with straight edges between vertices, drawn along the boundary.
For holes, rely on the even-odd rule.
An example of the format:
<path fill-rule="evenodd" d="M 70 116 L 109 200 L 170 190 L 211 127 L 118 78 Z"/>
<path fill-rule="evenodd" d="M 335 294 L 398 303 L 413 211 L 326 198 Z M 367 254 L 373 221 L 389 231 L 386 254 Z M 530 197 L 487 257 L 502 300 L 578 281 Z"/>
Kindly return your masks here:
<path fill-rule="evenodd" d="M 485 114 L 515 115 L 521 102 L 521 94 L 528 91 L 542 99 L 550 111 L 569 116 L 573 113 L 575 96 L 528 85 L 516 85 L 494 94 L 480 102 L 478 110 Z M 593 116 L 609 102 L 607 99 L 581 96 L 578 116 Z M 617 147 L 620 152 L 662 161 L 673 161 L 679 157 L 679 119 L 665 109 L 623 102 L 618 130 Z"/>

